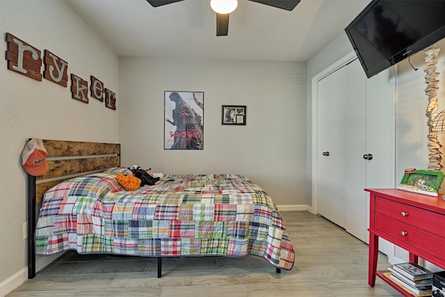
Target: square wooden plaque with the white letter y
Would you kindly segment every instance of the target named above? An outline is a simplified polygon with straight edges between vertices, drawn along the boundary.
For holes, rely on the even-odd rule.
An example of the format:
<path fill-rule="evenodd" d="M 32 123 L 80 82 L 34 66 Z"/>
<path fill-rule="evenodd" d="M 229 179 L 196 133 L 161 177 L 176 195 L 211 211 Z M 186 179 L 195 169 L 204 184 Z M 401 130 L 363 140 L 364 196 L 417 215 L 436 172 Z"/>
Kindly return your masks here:
<path fill-rule="evenodd" d="M 66 88 L 68 84 L 68 63 L 47 49 L 44 50 L 43 56 L 43 77 Z"/>

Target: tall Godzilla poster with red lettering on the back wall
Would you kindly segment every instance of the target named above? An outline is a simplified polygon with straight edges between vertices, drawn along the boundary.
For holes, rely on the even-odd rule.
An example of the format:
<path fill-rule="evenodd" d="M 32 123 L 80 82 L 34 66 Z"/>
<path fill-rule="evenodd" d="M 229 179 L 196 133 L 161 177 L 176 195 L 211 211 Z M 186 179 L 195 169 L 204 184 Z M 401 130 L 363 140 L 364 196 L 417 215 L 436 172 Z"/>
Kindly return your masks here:
<path fill-rule="evenodd" d="M 204 92 L 164 92 L 164 150 L 204 150 Z"/>

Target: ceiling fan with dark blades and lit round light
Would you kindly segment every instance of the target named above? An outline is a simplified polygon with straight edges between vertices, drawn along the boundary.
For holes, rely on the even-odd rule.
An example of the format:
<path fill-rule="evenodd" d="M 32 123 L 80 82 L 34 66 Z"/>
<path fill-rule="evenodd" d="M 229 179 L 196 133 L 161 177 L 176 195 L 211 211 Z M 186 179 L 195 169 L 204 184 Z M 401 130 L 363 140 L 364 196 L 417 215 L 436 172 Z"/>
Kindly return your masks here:
<path fill-rule="evenodd" d="M 163 6 L 166 4 L 171 4 L 179 1 L 184 1 L 184 0 L 147 0 L 147 2 L 150 3 L 150 5 L 153 7 Z M 300 3 L 300 0 L 248 0 L 248 1 L 253 1 L 289 11 L 293 10 L 293 8 L 295 8 L 297 4 Z M 222 4 L 223 6 L 225 6 L 225 4 L 229 3 L 233 3 L 232 8 L 229 8 L 229 10 L 218 10 L 217 8 L 218 4 Z M 229 33 L 229 14 L 236 9 L 238 1 L 211 0 L 210 4 L 211 8 L 216 12 L 216 36 L 226 36 Z"/>

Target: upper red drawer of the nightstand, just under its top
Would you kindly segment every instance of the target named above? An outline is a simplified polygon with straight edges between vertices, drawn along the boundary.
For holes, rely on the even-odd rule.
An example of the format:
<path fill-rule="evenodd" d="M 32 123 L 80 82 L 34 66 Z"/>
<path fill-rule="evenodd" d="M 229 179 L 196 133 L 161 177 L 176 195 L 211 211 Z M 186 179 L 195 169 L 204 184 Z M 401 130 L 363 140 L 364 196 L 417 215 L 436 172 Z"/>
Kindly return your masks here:
<path fill-rule="evenodd" d="M 442 214 L 381 197 L 375 197 L 375 212 L 445 237 L 445 216 Z"/>

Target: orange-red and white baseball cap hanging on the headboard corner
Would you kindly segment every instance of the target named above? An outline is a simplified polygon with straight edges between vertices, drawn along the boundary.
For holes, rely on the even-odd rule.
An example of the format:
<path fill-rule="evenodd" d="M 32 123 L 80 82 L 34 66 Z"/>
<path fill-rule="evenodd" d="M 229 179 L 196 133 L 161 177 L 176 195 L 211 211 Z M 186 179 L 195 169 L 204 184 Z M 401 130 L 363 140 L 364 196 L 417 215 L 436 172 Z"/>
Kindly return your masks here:
<path fill-rule="evenodd" d="M 30 175 L 44 175 L 48 172 L 47 150 L 42 139 L 28 141 L 22 151 L 22 166 Z"/>

